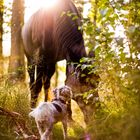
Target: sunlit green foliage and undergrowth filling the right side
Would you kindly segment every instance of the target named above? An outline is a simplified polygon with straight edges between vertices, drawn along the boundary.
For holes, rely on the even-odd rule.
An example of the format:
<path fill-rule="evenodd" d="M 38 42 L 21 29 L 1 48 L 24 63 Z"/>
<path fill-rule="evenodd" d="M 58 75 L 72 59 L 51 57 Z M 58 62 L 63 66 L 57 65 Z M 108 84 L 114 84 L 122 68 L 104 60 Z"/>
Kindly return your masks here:
<path fill-rule="evenodd" d="M 97 140 L 138 140 L 140 2 L 93 0 L 91 5 L 83 29 L 85 43 L 95 53 L 91 71 L 100 76 L 100 109 L 89 131 Z M 122 35 L 116 33 L 120 29 Z"/>

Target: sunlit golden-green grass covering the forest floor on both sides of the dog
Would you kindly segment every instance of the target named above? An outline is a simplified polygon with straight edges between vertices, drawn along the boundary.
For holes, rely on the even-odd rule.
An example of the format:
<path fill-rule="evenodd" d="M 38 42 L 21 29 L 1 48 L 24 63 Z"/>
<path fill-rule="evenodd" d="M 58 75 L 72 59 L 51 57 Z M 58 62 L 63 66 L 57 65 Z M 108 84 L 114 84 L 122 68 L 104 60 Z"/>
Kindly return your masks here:
<path fill-rule="evenodd" d="M 133 99 L 131 97 L 131 99 Z M 110 102 L 101 104 L 88 126 L 76 102 L 72 100 L 72 117 L 74 122 L 68 124 L 69 140 L 140 140 L 140 105 L 126 98 L 127 105 L 115 107 Z M 0 82 L 0 107 L 16 111 L 24 117 L 28 127 L 37 134 L 36 124 L 28 117 L 30 112 L 30 92 L 25 83 L 10 83 L 4 78 Z M 0 115 L 0 140 L 19 139 L 15 134 L 15 125 L 11 118 Z M 57 123 L 53 129 L 53 139 L 63 140 L 62 124 Z"/>

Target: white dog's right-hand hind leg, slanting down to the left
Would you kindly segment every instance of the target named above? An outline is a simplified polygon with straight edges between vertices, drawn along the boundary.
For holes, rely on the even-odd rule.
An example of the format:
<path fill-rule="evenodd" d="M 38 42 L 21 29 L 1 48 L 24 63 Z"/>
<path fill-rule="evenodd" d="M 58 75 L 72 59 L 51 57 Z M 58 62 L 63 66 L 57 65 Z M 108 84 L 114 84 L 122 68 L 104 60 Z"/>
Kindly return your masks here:
<path fill-rule="evenodd" d="M 41 136 L 41 140 L 48 140 L 49 139 L 49 136 L 52 132 L 52 128 L 53 128 L 53 123 L 50 123 L 50 125 L 46 128 L 45 132 Z"/>

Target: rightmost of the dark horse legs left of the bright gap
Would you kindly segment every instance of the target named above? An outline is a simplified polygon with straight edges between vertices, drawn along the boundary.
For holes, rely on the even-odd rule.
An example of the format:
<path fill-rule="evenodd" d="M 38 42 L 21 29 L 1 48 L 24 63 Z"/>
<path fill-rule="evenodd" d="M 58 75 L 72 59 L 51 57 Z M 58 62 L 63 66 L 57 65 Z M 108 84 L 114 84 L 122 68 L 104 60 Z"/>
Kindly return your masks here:
<path fill-rule="evenodd" d="M 44 73 L 43 73 L 43 84 L 44 84 L 44 91 L 45 91 L 45 101 L 48 100 L 48 90 L 50 87 L 50 80 L 52 75 L 55 72 L 55 63 L 54 64 L 49 64 L 46 65 L 44 68 Z"/>

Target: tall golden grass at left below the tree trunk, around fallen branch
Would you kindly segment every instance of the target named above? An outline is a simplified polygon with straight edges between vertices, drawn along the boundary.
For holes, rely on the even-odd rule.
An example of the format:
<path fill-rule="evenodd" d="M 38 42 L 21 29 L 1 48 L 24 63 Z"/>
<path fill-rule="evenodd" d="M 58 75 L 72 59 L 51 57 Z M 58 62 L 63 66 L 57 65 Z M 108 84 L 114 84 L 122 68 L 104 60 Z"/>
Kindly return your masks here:
<path fill-rule="evenodd" d="M 0 107 L 20 113 L 25 120 L 29 112 L 29 92 L 24 83 L 11 83 L 8 78 L 0 82 Z M 15 139 L 15 124 L 12 118 L 0 116 L 0 139 Z"/>

